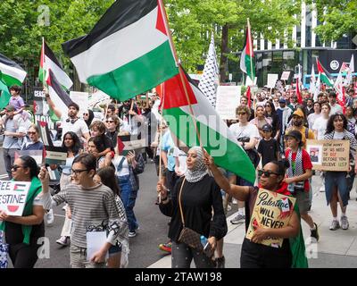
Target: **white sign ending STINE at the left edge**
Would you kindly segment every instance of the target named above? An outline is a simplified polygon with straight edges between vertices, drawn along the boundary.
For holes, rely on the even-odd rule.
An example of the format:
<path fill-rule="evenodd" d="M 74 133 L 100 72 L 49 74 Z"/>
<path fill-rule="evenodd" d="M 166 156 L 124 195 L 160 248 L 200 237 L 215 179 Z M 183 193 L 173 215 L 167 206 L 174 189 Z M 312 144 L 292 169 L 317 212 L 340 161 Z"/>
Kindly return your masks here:
<path fill-rule="evenodd" d="M 21 216 L 26 205 L 30 181 L 0 181 L 0 209 Z"/>

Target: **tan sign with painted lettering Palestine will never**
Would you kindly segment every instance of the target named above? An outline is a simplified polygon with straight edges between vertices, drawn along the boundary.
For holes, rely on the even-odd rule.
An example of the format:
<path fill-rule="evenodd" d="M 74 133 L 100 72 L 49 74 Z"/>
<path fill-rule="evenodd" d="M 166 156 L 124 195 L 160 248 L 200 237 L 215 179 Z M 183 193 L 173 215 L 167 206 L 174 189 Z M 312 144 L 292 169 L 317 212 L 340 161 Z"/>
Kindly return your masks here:
<path fill-rule="evenodd" d="M 245 238 L 251 240 L 258 227 L 266 229 L 286 227 L 293 214 L 295 200 L 293 197 L 284 196 L 267 189 L 259 189 Z M 270 237 L 262 240 L 261 244 L 281 248 L 283 240 L 283 238 Z"/>

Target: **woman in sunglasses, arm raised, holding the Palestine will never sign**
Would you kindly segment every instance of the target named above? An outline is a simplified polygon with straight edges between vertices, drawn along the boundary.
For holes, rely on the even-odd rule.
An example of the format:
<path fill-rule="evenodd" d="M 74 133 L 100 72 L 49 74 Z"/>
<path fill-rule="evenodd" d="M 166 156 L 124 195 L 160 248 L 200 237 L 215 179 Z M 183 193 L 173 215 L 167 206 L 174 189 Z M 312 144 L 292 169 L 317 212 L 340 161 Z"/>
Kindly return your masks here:
<path fill-rule="evenodd" d="M 220 189 L 238 200 L 245 201 L 248 210 L 247 214 L 245 214 L 248 218 L 246 222 L 250 221 L 250 217 L 253 214 L 253 206 L 259 195 L 260 188 L 291 196 L 284 181 L 286 168 L 288 167 L 287 161 L 273 161 L 264 165 L 259 187 L 230 184 L 228 179 L 223 176 L 213 163 L 212 157 L 207 153 L 205 153 L 204 162 L 211 170 Z M 267 237 L 283 238 L 282 247 L 273 248 L 260 244 Z M 298 209 L 295 207 L 286 227 L 275 229 L 258 226 L 252 240 L 245 238 L 242 245 L 240 266 L 242 268 L 303 268 L 307 267 L 307 259 L 304 253 L 303 233 Z"/>

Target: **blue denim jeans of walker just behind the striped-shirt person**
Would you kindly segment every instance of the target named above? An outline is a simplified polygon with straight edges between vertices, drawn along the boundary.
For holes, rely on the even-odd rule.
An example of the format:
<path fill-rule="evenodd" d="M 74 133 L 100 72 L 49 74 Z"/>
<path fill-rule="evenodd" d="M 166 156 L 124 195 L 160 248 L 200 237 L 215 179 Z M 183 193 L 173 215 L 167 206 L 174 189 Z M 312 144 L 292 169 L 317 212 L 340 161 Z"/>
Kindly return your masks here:
<path fill-rule="evenodd" d="M 136 198 L 133 198 L 130 187 L 129 175 L 119 177 L 120 197 L 125 206 L 125 212 L 128 217 L 129 231 L 135 231 L 138 223 L 134 214 L 134 206 Z"/>

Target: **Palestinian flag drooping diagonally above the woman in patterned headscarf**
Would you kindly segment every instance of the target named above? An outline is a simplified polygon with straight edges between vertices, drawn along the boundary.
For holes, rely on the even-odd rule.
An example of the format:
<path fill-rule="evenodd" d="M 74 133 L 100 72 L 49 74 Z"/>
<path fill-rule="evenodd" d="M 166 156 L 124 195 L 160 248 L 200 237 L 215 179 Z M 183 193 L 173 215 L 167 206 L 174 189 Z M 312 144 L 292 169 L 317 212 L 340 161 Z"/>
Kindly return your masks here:
<path fill-rule="evenodd" d="M 220 119 L 220 115 L 202 91 L 195 86 L 194 81 L 186 73 L 182 72 L 182 76 L 203 147 L 214 158 L 215 164 L 247 181 L 254 182 L 254 166 L 245 150 L 228 130 L 226 122 Z M 171 132 L 187 147 L 200 146 L 179 75 L 165 81 L 164 95 L 163 115 L 169 123 Z"/>

